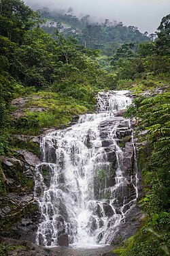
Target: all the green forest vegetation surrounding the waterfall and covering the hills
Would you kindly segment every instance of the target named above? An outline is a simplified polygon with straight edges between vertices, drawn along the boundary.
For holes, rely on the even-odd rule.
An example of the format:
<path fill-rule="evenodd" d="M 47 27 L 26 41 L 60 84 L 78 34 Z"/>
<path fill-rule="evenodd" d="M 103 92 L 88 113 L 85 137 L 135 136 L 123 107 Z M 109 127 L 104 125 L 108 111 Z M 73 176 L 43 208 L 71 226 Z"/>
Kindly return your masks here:
<path fill-rule="evenodd" d="M 169 255 L 170 14 L 156 36 L 148 36 L 109 20 L 91 23 L 88 15 L 79 20 L 72 12 L 44 8 L 40 14 L 21 0 L 0 1 L 0 159 L 16 156 L 18 148 L 35 152 L 31 144 L 18 145 L 16 134 L 62 128 L 73 116 L 95 111 L 98 91 L 130 89 L 135 100 L 126 116 L 135 119 L 136 136 L 147 130 L 137 156 L 144 218 L 139 232 L 114 253 Z M 12 101 L 20 97 L 24 109 L 15 117 Z M 1 196 L 10 191 L 5 175 L 14 173 L 0 167 Z M 18 172 L 13 178 L 26 190 L 33 186 Z M 4 244 L 0 254 L 7 255 Z"/>

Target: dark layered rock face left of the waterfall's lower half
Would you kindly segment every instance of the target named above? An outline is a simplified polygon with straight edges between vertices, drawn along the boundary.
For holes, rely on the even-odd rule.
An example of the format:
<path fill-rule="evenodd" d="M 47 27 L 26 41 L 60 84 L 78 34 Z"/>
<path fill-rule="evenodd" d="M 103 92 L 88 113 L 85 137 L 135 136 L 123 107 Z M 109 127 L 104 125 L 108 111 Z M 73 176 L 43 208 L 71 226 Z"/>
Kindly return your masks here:
<path fill-rule="evenodd" d="M 30 141 L 30 137 L 22 137 Z M 32 137 L 33 143 L 38 139 Z M 28 150 L 17 150 L 17 158 L 1 157 L 1 177 L 6 190 L 0 199 L 0 235 L 35 242 L 39 209 L 35 200 L 34 169 L 39 158 Z"/>

